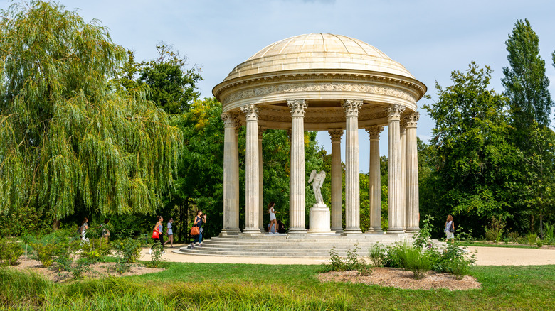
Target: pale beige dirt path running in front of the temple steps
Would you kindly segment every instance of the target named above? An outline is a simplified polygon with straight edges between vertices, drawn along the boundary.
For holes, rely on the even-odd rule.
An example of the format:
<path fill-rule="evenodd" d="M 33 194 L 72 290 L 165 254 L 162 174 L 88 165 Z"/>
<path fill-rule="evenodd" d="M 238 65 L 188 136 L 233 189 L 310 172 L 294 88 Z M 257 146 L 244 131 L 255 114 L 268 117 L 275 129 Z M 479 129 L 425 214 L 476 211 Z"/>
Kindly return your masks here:
<path fill-rule="evenodd" d="M 181 247 L 166 249 L 164 258 L 177 263 L 262 263 L 270 265 L 319 265 L 329 258 L 265 258 L 265 257 L 224 257 L 191 256 L 173 253 Z M 476 252 L 478 266 L 533 266 L 554 265 L 555 249 L 510 249 L 502 247 L 469 246 L 469 251 Z M 148 249 L 142 249 L 142 260 L 149 261 Z"/>

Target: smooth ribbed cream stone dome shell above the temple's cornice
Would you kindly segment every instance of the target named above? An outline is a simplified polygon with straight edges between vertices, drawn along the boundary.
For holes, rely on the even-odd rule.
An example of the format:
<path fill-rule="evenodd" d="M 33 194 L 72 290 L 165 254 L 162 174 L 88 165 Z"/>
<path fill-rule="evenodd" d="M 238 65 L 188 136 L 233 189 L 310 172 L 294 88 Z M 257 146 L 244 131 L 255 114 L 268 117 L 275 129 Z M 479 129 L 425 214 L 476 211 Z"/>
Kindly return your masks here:
<path fill-rule="evenodd" d="M 368 43 L 331 33 L 309 33 L 268 45 L 235 67 L 223 81 L 283 70 L 317 69 L 368 70 L 414 79 L 403 65 Z"/>

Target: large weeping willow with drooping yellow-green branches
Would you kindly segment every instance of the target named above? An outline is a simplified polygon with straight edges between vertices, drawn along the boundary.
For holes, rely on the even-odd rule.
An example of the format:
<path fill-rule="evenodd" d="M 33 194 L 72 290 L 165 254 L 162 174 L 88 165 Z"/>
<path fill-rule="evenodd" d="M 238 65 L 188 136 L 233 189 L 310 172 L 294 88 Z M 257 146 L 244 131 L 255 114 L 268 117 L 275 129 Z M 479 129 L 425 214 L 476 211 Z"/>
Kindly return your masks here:
<path fill-rule="evenodd" d="M 181 131 L 147 87 L 117 87 L 125 50 L 60 4 L 0 15 L 0 214 L 154 212 L 172 187 Z"/>

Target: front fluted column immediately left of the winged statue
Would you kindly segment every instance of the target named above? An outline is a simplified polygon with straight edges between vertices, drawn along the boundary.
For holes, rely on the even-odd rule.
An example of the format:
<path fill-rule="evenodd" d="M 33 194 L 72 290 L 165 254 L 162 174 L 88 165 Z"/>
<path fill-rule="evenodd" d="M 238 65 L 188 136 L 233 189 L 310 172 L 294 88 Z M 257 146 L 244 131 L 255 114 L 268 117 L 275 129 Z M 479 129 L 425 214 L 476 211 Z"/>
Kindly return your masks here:
<path fill-rule="evenodd" d="M 291 173 L 289 233 L 305 233 L 305 109 L 304 99 L 288 100 L 291 109 Z"/>

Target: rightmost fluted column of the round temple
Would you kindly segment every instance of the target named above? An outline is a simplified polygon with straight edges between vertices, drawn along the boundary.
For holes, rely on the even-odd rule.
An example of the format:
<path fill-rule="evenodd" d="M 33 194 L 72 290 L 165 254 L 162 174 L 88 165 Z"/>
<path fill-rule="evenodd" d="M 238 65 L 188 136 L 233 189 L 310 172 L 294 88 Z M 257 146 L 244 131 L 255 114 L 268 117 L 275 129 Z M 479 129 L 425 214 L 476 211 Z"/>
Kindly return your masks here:
<path fill-rule="evenodd" d="M 416 124 L 420 114 L 414 112 L 407 117 L 406 125 L 406 207 L 407 232 L 416 232 L 419 227 L 418 205 L 418 145 L 416 143 Z"/>

